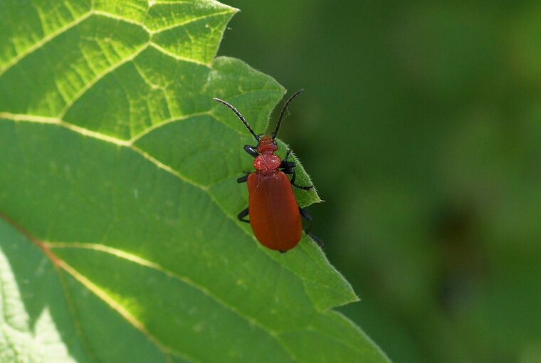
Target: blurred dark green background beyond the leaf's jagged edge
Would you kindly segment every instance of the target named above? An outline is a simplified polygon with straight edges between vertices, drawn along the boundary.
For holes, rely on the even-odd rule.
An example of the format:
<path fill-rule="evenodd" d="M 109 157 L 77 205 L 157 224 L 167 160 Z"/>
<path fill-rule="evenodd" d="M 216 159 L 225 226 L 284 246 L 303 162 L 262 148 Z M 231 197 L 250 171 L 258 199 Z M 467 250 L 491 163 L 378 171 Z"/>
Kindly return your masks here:
<path fill-rule="evenodd" d="M 306 89 L 280 138 L 341 310 L 395 362 L 541 362 L 541 3 L 226 4 L 219 55 Z"/>

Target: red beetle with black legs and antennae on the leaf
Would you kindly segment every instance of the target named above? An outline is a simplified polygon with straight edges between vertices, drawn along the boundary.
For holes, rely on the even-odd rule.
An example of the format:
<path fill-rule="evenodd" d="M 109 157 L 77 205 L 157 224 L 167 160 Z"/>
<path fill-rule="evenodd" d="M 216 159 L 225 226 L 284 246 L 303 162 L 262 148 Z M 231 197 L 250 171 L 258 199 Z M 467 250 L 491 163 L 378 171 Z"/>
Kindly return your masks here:
<path fill-rule="evenodd" d="M 291 187 L 293 185 L 308 190 L 313 186 L 295 184 L 296 164 L 288 162 L 291 150 L 288 150 L 283 160 L 274 154 L 278 150 L 275 137 L 278 134 L 285 110 L 289 102 L 301 92 L 303 90 L 298 90 L 285 102 L 278 118 L 276 130 L 271 136 L 256 135 L 241 112 L 238 112 L 228 102 L 214 98 L 214 100 L 231 108 L 258 142 L 256 147 L 244 145 L 246 152 L 256 158 L 253 160 L 253 167 L 256 168 L 256 171 L 237 179 L 238 183 L 248 181 L 248 208 L 241 211 L 237 217 L 243 222 L 250 223 L 253 234 L 263 246 L 280 252 L 288 251 L 299 243 L 303 230 L 300 216 L 303 216 L 310 223 L 305 232 L 322 246 L 320 239 L 310 233 L 312 217 L 304 209 L 299 208 Z M 291 180 L 285 174 L 291 174 Z M 249 221 L 244 219 L 248 213 L 250 214 Z"/>

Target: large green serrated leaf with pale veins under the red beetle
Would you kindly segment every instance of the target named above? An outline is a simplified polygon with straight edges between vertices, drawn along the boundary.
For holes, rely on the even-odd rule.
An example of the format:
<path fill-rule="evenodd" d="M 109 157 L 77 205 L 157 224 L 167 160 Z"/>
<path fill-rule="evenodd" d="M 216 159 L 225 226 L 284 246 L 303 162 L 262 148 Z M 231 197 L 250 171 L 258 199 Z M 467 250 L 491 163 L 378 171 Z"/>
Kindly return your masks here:
<path fill-rule="evenodd" d="M 212 98 L 263 132 L 285 90 L 214 58 L 235 12 L 0 3 L 2 362 L 387 362 L 310 238 L 280 254 L 236 220 L 253 139 Z"/>

